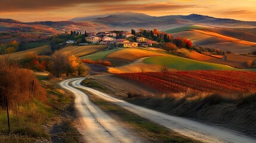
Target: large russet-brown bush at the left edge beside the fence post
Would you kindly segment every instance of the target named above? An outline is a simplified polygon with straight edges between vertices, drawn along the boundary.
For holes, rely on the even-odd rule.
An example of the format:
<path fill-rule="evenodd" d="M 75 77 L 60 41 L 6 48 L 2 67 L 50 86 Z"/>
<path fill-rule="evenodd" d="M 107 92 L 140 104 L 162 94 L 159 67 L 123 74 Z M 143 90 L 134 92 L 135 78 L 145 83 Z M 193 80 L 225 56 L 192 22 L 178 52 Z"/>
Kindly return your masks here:
<path fill-rule="evenodd" d="M 17 64 L 8 63 L 0 58 L 0 104 L 5 105 L 5 95 L 9 104 L 24 104 L 29 101 L 30 89 L 34 81 L 33 95 L 39 101 L 46 101 L 46 91 L 40 85 L 32 71 L 21 69 Z"/>

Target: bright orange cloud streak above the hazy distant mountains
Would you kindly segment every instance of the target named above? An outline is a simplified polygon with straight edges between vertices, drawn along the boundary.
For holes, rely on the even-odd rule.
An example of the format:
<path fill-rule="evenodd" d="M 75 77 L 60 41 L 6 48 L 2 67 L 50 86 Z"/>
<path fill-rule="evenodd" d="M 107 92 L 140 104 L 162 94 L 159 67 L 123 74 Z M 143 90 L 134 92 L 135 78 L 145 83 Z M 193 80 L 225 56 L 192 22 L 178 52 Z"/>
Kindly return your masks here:
<path fill-rule="evenodd" d="M 183 8 L 192 8 L 196 5 L 179 5 L 170 2 L 149 3 L 149 4 L 109 4 L 101 5 L 102 11 L 166 11 Z"/>

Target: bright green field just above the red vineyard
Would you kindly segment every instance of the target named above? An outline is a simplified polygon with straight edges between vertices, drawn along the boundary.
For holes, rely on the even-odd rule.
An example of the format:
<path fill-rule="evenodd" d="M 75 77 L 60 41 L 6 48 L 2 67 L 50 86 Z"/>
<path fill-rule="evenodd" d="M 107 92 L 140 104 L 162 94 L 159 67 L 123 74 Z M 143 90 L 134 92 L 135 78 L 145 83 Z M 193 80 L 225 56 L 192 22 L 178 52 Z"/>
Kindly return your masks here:
<path fill-rule="evenodd" d="M 203 61 L 191 60 L 188 58 L 168 56 L 145 58 L 143 63 L 167 66 L 177 70 L 236 70 L 233 67 L 222 64 L 206 63 Z"/>

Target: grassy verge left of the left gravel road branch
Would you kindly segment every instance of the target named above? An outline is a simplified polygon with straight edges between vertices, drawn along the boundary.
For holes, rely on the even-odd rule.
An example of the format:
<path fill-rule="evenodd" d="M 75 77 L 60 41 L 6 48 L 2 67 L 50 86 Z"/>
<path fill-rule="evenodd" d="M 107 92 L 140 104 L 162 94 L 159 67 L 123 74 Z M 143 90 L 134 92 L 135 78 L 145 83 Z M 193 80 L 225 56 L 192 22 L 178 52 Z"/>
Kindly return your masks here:
<path fill-rule="evenodd" d="M 37 76 L 47 90 L 46 102 L 33 98 L 29 107 L 19 105 L 10 109 L 11 133 L 8 135 L 7 114 L 0 108 L 1 142 L 82 142 L 73 125 L 75 120 L 73 95 L 58 87 L 57 79 Z"/>

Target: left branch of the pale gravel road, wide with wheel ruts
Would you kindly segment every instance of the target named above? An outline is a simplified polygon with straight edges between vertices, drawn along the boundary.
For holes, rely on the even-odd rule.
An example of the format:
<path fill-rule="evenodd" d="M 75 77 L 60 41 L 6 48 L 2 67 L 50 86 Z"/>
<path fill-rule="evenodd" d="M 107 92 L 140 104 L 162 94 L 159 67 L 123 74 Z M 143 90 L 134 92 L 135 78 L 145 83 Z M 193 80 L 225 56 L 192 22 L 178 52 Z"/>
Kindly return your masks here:
<path fill-rule="evenodd" d="M 73 88 L 69 84 L 81 78 L 64 80 L 60 86 L 75 94 L 75 108 L 78 110 L 80 127 L 79 132 L 87 142 L 140 142 L 128 130 L 122 128 L 118 122 L 92 104 L 88 95 Z"/>

